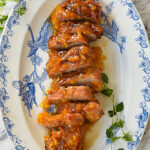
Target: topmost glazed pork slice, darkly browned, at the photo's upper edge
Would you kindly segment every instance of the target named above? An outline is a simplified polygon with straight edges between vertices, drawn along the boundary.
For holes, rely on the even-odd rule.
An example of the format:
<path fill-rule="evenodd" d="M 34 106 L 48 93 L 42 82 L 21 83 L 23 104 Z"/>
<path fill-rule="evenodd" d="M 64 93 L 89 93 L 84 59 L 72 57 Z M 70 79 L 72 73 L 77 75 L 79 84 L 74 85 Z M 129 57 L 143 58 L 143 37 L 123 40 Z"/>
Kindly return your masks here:
<path fill-rule="evenodd" d="M 88 20 L 99 22 L 101 16 L 101 6 L 94 1 L 65 1 L 57 7 L 52 14 L 52 23 L 55 20 Z"/>

